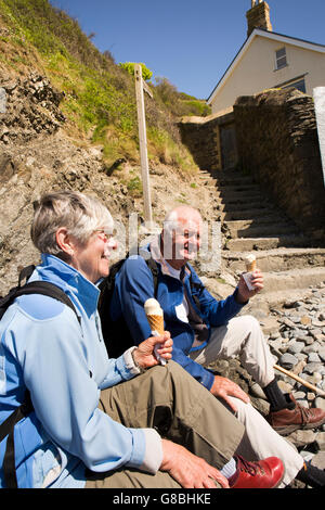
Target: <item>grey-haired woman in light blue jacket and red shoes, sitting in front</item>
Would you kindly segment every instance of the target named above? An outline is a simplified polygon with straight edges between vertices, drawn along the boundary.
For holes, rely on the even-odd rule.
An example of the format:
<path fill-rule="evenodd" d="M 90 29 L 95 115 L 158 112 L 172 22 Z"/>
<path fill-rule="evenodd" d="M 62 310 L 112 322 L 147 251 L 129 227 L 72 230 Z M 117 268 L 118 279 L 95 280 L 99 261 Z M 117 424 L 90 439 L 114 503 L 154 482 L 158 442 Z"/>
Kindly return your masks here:
<path fill-rule="evenodd" d="M 17 486 L 212 488 L 240 486 L 239 471 L 256 484 L 248 486 L 277 485 L 283 464 L 276 458 L 238 459 L 231 471 L 244 426 L 177 364 L 158 365 L 156 344 L 171 358 L 167 332 L 108 359 L 96 282 L 109 271 L 112 231 L 108 211 L 81 193 L 50 193 L 36 205 L 31 239 L 41 264 L 29 281 L 62 289 L 79 320 L 39 294 L 16 298 L 1 320 L 0 424 L 26 390 L 32 403 L 14 428 Z M 4 438 L 0 466 L 5 449 Z M 229 482 L 219 470 L 235 477 Z"/>

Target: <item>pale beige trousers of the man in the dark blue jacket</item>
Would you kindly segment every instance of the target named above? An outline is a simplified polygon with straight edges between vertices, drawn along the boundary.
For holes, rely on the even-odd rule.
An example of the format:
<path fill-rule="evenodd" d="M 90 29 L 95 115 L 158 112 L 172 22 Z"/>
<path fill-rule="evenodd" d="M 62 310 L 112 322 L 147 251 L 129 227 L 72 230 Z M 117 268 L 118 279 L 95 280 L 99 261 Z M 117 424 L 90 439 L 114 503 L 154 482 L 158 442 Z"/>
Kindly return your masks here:
<path fill-rule="evenodd" d="M 204 366 L 234 356 L 239 357 L 243 367 L 262 387 L 273 381 L 274 359 L 259 322 L 251 316 L 235 317 L 226 326 L 213 328 L 208 345 L 191 354 L 192 359 Z M 302 468 L 302 457 L 250 404 L 232 399 L 238 409 L 237 418 L 245 425 L 243 457 L 247 460 L 278 457 L 286 468 L 282 486 L 287 485 Z"/>

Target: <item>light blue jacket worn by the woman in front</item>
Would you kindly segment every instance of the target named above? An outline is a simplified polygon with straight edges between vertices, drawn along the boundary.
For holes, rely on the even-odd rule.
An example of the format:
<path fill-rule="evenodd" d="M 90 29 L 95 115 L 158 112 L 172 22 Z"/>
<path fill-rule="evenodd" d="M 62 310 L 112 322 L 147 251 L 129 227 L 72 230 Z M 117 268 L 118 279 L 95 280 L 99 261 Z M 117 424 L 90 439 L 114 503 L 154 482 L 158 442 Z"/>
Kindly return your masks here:
<path fill-rule="evenodd" d="M 0 322 L 0 423 L 23 403 L 26 387 L 35 409 L 15 425 L 18 486 L 83 487 L 86 467 L 156 472 L 162 455 L 156 431 L 127 429 L 98 409 L 101 390 L 136 373 L 129 353 L 108 359 L 96 311 L 99 289 L 52 255 L 42 255 L 35 280 L 63 289 L 81 324 L 66 305 L 36 294 L 18 297 Z M 5 443 L 0 444 L 0 487 Z"/>

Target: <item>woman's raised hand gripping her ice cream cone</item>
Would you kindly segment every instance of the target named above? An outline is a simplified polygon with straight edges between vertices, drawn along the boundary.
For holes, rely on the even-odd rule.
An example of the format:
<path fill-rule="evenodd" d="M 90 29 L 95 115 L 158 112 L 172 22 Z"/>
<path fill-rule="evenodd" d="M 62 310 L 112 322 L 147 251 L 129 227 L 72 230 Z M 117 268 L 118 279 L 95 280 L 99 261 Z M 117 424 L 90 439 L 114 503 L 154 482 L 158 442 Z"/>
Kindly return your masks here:
<path fill-rule="evenodd" d="M 151 336 L 150 339 L 139 344 L 139 347 L 133 350 L 132 355 L 135 364 L 139 365 L 139 367 L 150 368 L 159 365 L 159 361 L 154 354 L 154 348 L 157 344 L 160 344 L 159 348 L 157 349 L 157 354 L 159 354 L 161 358 L 166 359 L 166 361 L 171 359 L 172 340 L 170 337 L 170 333 L 165 331 L 164 335 Z"/>

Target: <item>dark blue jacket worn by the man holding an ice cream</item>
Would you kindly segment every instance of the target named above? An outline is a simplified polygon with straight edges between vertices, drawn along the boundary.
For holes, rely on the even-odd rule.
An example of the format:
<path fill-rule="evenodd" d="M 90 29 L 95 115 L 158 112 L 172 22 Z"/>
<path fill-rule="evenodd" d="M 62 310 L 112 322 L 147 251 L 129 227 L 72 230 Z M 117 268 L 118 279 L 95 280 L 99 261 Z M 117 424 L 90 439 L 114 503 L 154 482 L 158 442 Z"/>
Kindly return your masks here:
<path fill-rule="evenodd" d="M 151 246 L 146 246 L 146 250 L 151 251 Z M 190 265 L 187 267 L 192 272 L 192 281 L 204 286 L 193 267 Z M 190 295 L 188 275 L 185 277 L 185 285 Z M 197 295 L 199 299 L 200 311 L 193 297 L 192 305 L 197 314 L 200 314 L 209 333 L 211 327 L 225 324 L 243 308 L 243 305 L 235 299 L 236 292 L 237 290 L 225 299 L 217 301 L 206 289 L 203 292 L 192 290 L 192 296 Z M 172 359 L 210 390 L 214 379 L 212 372 L 188 357 L 194 342 L 194 331 L 187 322 L 178 317 L 176 309 L 183 302 L 183 294 L 184 289 L 180 280 L 167 275 L 158 262 L 156 298 L 164 310 L 165 330 L 170 332 L 173 340 Z M 144 303 L 150 297 L 154 297 L 153 275 L 142 256 L 132 255 L 127 258 L 116 276 L 110 317 L 117 320 L 123 315 L 135 345 L 151 335 L 151 328 L 144 313 Z"/>

